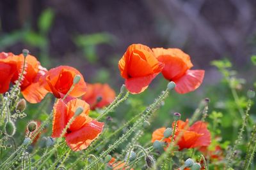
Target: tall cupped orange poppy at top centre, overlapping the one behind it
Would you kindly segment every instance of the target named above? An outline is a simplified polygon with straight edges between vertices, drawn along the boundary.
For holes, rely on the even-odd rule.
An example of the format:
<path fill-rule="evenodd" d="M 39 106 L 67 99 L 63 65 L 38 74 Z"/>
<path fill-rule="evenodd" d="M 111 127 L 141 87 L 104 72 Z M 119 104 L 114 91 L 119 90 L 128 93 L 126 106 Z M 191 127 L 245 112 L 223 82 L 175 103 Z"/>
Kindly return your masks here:
<path fill-rule="evenodd" d="M 130 45 L 118 62 L 121 76 L 125 78 L 125 86 L 132 94 L 139 94 L 147 89 L 163 66 L 152 50 L 141 44 Z"/>

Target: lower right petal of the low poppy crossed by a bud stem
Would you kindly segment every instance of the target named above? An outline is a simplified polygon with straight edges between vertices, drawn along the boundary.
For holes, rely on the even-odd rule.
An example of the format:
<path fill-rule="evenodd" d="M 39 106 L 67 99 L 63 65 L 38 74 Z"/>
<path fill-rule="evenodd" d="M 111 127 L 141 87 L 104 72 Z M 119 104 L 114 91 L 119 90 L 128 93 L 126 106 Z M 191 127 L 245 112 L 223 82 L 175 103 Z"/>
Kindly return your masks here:
<path fill-rule="evenodd" d="M 66 136 L 67 145 L 74 151 L 86 149 L 102 132 L 104 123 L 93 120 L 81 129 Z"/>

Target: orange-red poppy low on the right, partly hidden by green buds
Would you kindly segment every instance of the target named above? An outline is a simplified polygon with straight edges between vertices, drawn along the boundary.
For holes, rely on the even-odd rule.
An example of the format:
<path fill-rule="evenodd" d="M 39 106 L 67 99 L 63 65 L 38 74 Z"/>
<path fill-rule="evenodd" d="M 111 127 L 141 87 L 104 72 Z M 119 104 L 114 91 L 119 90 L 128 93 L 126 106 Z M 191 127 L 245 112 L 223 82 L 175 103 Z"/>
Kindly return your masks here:
<path fill-rule="evenodd" d="M 174 123 L 173 123 L 174 127 Z M 156 140 L 161 141 L 164 138 L 165 127 L 157 129 L 152 134 L 152 143 Z M 186 122 L 182 120 L 177 121 L 177 127 L 175 130 L 174 140 L 181 134 L 177 145 L 179 150 L 184 148 L 198 148 L 200 146 L 209 146 L 211 143 L 211 134 L 207 129 L 207 124 L 202 121 L 195 122 L 191 127 L 188 127 L 188 119 Z M 170 143 L 172 136 L 167 139 L 164 139 L 166 143 Z"/>

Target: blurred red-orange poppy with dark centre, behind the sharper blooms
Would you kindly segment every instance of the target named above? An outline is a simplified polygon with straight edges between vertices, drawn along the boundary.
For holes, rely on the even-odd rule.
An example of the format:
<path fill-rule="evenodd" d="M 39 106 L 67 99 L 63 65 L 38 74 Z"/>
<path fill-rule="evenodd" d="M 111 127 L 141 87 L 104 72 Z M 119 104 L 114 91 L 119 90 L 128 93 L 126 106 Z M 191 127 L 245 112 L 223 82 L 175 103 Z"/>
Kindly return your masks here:
<path fill-rule="evenodd" d="M 90 104 L 91 110 L 108 106 L 115 99 L 115 91 L 108 84 L 87 84 L 86 94 L 82 99 Z"/>

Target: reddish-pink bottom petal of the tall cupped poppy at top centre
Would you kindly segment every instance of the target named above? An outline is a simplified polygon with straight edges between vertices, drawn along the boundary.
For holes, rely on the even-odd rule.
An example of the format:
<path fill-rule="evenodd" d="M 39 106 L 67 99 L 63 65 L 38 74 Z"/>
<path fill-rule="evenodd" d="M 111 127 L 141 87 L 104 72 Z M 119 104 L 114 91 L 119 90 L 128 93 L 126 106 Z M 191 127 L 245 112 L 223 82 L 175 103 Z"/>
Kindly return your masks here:
<path fill-rule="evenodd" d="M 139 94 L 147 89 L 150 82 L 157 76 L 157 74 L 151 74 L 143 77 L 128 78 L 125 80 L 125 87 L 131 94 Z"/>

